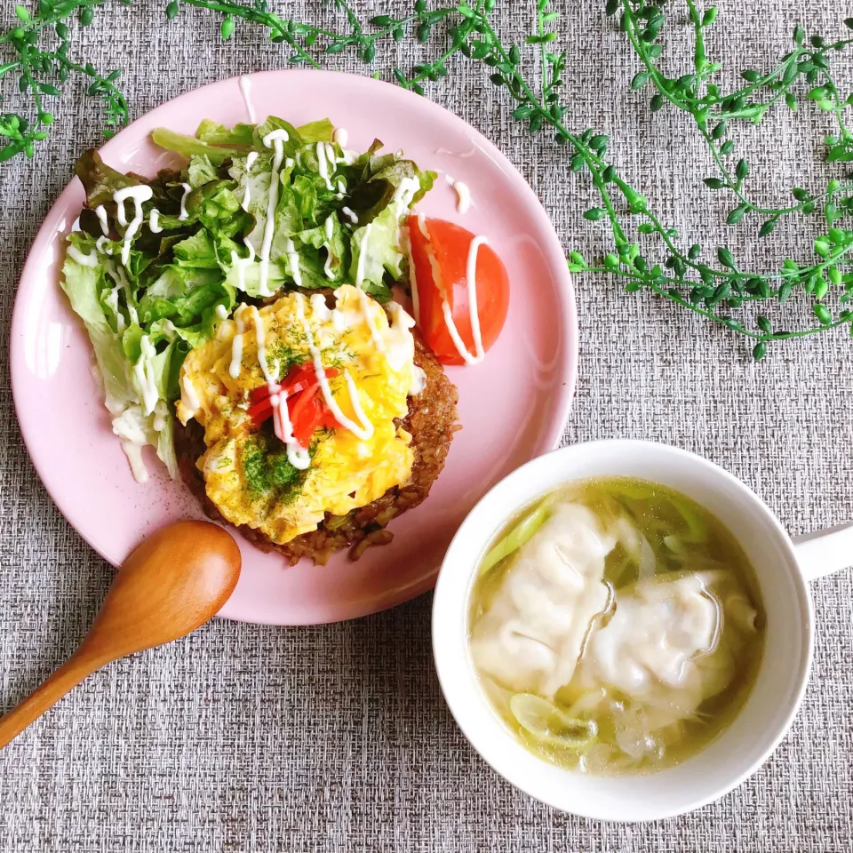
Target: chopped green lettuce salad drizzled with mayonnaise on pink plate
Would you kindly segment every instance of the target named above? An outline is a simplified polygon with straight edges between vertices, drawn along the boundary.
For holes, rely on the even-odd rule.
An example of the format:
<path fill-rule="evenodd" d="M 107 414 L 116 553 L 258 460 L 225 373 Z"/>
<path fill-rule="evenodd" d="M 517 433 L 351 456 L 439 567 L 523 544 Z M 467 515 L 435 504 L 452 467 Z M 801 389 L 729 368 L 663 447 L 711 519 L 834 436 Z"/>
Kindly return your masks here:
<path fill-rule="evenodd" d="M 328 120 L 299 128 L 275 117 L 233 128 L 204 121 L 193 137 L 153 134 L 187 157 L 181 171 L 148 180 L 93 150 L 77 162 L 86 207 L 68 236 L 61 286 L 92 339 L 113 430 L 137 479 L 146 477 L 144 445 L 178 475 L 180 366 L 238 301 L 347 282 L 387 301 L 403 281 L 401 225 L 435 175 L 380 154 L 379 140 L 356 155 L 333 137 Z"/>

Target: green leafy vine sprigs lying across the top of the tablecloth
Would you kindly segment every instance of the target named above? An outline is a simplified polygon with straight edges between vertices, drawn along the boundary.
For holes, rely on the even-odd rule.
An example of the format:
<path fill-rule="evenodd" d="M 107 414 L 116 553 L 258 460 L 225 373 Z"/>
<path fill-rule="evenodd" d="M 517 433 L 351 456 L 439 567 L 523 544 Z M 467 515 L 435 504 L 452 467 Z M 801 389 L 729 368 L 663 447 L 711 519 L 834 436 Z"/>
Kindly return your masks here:
<path fill-rule="evenodd" d="M 116 2 L 130 4 L 132 0 Z M 46 99 L 58 98 L 72 75 L 84 76 L 88 92 L 102 100 L 108 132 L 127 120 L 124 95 L 116 88 L 119 72 L 102 74 L 91 64 L 69 57 L 71 19 L 88 26 L 97 8 L 106 3 L 40 0 L 35 12 L 23 5 L 16 7 L 16 26 L 0 36 L 0 44 L 12 53 L 0 65 L 0 82 L 6 76 L 17 76 L 20 93 L 29 97 L 32 110 L 28 116 L 15 112 L 0 116 L 0 136 L 4 138 L 0 161 L 21 153 L 33 155 L 36 143 L 48 137 L 53 123 Z M 715 165 L 715 173 L 704 178 L 706 187 L 732 199 L 726 218 L 729 226 L 753 227 L 756 239 L 761 239 L 786 217 L 820 215 L 825 227 L 814 241 L 814 258 L 786 259 L 769 272 L 748 270 L 727 246 L 705 251 L 700 243 L 682 240 L 674 227 L 664 223 L 647 198 L 606 162 L 608 136 L 592 129 L 578 131 L 566 123 L 569 110 L 561 93 L 567 58 L 566 52 L 554 48 L 559 39 L 554 29 L 557 14 L 550 10 L 549 0 L 538 0 L 534 31 L 522 44 L 506 44 L 498 36 L 494 22 L 497 0 L 435 4 L 432 8 L 426 0 L 417 0 L 403 17 L 380 14 L 369 21 L 362 20 L 347 0 L 334 0 L 340 13 L 338 28 L 283 18 L 270 11 L 266 0 L 169 0 L 163 8 L 169 20 L 178 18 L 187 6 L 219 15 L 225 40 L 238 26 L 262 28 L 273 43 L 283 45 L 290 64 L 312 68 L 321 68 L 326 56 L 347 51 L 371 64 L 383 44 L 407 38 L 437 42 L 432 60 L 392 69 L 398 84 L 419 94 L 424 94 L 428 84 L 447 76 L 451 61 L 465 58 L 481 63 L 491 82 L 506 91 L 514 118 L 531 133 L 553 133 L 554 141 L 567 149 L 570 170 L 588 174 L 600 196 L 600 202 L 584 217 L 607 224 L 613 249 L 599 261 L 587 261 L 572 251 L 570 270 L 618 276 L 628 292 L 652 291 L 752 339 L 753 355 L 761 359 L 771 342 L 853 324 L 853 311 L 846 307 L 853 299 L 853 230 L 841 227 L 839 221 L 853 213 L 853 176 L 842 172 L 816 192 L 792 187 L 791 202 L 777 206 L 756 203 L 749 190 L 750 163 L 733 156 L 735 142 L 730 132 L 738 123 L 759 124 L 771 108 L 796 112 L 801 100 L 810 100 L 831 114 L 837 126 L 825 140 L 827 161 L 853 162 L 853 132 L 845 120 L 853 95 L 839 91 L 832 73 L 833 56 L 853 39 L 811 36 L 807 40 L 798 26 L 793 31 L 793 49 L 781 60 L 769 70 L 744 69 L 740 73 L 743 84 L 723 92 L 715 82 L 721 63 L 706 50 L 706 34 L 717 19 L 717 7 L 700 9 L 696 0 L 684 3 L 694 45 L 692 68 L 671 75 L 661 61 L 667 4 L 607 0 L 605 12 L 618 20 L 640 63 L 631 88 L 640 94 L 650 92 L 653 113 L 669 107 L 690 116 Z M 853 28 L 853 20 L 845 24 Z M 538 72 L 526 70 L 530 64 L 523 58 L 530 50 L 536 52 Z M 634 232 L 632 239 L 629 233 Z M 814 318 L 800 328 L 774 327 L 766 315 L 745 310 L 785 303 L 794 294 L 809 300 Z"/>

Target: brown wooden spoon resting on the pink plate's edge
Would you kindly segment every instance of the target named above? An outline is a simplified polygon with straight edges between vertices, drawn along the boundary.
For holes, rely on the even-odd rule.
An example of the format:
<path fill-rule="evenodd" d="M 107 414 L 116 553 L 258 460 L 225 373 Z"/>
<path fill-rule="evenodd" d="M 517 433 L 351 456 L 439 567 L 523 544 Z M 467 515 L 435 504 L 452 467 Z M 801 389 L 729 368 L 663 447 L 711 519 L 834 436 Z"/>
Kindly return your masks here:
<path fill-rule="evenodd" d="M 210 522 L 178 522 L 127 558 L 94 624 L 68 662 L 0 719 L 0 749 L 113 660 L 190 634 L 213 618 L 240 577 L 240 549 Z"/>

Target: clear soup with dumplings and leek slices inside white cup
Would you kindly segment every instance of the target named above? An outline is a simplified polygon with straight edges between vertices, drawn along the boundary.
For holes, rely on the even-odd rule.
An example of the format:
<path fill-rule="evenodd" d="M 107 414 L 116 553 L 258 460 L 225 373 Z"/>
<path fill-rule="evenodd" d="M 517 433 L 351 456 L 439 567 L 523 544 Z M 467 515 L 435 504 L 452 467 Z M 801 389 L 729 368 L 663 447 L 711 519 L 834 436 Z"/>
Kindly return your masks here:
<path fill-rule="evenodd" d="M 764 643 L 752 566 L 702 506 L 657 483 L 570 483 L 506 525 L 472 592 L 490 702 L 533 753 L 648 772 L 743 706 Z"/>

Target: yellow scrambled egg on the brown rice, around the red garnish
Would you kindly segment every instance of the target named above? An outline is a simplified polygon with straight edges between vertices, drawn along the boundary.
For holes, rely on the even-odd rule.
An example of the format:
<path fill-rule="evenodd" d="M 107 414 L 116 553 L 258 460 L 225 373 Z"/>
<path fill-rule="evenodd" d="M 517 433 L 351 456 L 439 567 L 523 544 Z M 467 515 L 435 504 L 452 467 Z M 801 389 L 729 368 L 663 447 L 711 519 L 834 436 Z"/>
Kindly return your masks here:
<path fill-rule="evenodd" d="M 418 383 L 413 321 L 392 305 L 388 323 L 379 303 L 352 285 L 335 295 L 334 309 L 319 294 L 299 293 L 260 309 L 240 306 L 181 368 L 178 416 L 204 427 L 207 450 L 197 465 L 208 496 L 229 522 L 262 530 L 279 544 L 315 530 L 327 512 L 345 515 L 371 503 L 411 475 L 411 435 L 394 419 L 405 417 Z M 272 420 L 259 427 L 247 411 L 251 390 L 267 384 L 265 361 L 273 379 L 283 379 L 294 364 L 311 363 L 306 327 L 323 367 L 339 371 L 329 384 L 341 411 L 359 423 L 348 373 L 373 433 L 362 440 L 344 426 L 317 430 L 310 466 L 301 471 L 288 461 Z"/>

